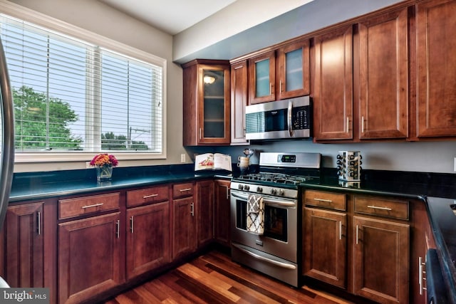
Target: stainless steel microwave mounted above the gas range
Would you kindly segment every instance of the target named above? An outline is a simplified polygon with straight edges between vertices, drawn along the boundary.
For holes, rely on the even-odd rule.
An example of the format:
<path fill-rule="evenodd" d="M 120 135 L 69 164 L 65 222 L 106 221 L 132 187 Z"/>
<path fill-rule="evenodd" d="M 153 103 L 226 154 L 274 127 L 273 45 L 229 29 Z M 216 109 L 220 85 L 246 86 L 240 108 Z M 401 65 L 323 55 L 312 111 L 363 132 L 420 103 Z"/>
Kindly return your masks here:
<path fill-rule="evenodd" d="M 246 139 L 276 140 L 311 136 L 309 96 L 247 105 Z"/>

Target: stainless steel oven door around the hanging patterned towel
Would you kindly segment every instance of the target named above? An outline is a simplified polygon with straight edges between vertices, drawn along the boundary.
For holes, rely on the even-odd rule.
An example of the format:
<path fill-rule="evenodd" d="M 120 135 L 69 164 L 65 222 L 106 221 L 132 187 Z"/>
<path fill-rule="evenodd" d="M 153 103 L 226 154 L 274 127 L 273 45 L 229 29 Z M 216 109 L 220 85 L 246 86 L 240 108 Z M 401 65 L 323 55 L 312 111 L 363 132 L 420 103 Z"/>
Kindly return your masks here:
<path fill-rule="evenodd" d="M 297 263 L 298 201 L 262 195 L 264 234 L 247 231 L 248 192 L 231 190 L 232 242 Z"/>

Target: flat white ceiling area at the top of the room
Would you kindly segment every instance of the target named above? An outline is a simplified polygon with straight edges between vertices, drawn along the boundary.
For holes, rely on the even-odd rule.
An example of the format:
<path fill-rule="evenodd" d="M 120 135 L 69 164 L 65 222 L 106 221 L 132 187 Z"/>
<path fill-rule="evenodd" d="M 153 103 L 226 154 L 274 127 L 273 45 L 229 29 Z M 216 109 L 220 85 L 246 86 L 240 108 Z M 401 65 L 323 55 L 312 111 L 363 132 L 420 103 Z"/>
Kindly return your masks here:
<path fill-rule="evenodd" d="M 170 35 L 206 19 L 236 0 L 99 0 Z"/>

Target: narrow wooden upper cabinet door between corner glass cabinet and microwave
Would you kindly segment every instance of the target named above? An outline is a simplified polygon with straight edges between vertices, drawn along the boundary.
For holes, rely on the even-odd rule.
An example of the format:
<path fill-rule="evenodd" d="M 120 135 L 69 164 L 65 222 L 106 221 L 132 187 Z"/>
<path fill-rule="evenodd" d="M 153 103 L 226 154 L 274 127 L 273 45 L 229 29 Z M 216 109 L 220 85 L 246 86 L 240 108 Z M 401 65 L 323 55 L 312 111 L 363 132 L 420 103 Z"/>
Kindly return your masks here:
<path fill-rule="evenodd" d="M 231 65 L 231 144 L 245 145 L 245 106 L 248 95 L 247 60 Z"/>

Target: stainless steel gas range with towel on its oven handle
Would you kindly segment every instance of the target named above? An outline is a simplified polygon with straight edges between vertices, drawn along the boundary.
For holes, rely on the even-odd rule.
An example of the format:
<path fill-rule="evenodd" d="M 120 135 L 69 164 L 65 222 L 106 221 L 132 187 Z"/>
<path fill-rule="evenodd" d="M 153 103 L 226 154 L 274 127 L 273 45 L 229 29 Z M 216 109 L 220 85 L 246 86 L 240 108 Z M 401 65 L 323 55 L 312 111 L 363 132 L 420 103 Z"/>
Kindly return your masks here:
<path fill-rule="evenodd" d="M 259 173 L 231 183 L 232 259 L 299 286 L 299 184 L 320 177 L 319 153 L 261 153 Z M 253 226 L 253 229 L 252 229 Z"/>

